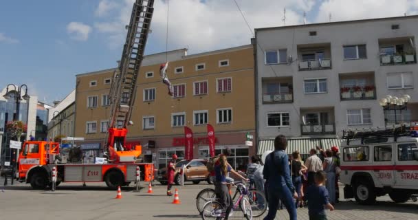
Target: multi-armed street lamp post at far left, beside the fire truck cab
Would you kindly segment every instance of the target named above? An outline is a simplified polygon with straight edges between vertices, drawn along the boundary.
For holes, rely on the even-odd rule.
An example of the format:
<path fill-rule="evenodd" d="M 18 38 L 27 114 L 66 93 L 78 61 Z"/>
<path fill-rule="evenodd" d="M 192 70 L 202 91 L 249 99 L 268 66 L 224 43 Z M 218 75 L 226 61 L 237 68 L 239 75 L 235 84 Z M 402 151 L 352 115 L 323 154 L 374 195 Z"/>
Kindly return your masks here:
<path fill-rule="evenodd" d="M 14 89 L 9 91 L 10 86 L 12 86 Z M 25 87 L 25 95 L 22 96 L 23 87 Z M 5 91 L 5 94 L 4 94 L 3 97 L 6 100 L 9 100 L 10 98 L 12 98 L 12 95 L 14 95 L 14 100 L 16 101 L 16 113 L 13 114 L 13 121 L 17 121 L 17 120 L 19 120 L 20 102 L 21 102 L 22 98 L 28 102 L 28 111 L 29 111 L 30 96 L 28 95 L 28 86 L 23 84 L 21 86 L 16 87 L 16 85 L 14 85 L 14 84 L 9 84 L 6 87 L 6 91 Z M 27 120 L 26 124 L 28 124 L 28 118 L 26 118 L 26 120 Z M 20 141 L 19 137 L 16 137 L 16 139 L 17 139 L 17 141 Z M 14 148 L 12 148 L 12 158 L 11 159 L 12 159 L 12 185 L 13 185 L 14 166 L 16 166 L 16 149 L 14 149 Z M 5 181 L 5 183 L 7 184 L 6 181 Z"/>

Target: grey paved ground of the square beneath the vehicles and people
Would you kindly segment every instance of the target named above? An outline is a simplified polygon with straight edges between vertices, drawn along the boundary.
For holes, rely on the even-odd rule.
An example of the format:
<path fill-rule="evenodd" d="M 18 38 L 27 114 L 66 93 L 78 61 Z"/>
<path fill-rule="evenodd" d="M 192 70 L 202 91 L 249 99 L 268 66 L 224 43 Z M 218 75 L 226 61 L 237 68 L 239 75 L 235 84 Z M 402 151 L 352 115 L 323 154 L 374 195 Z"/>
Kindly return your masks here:
<path fill-rule="evenodd" d="M 133 187 L 122 188 L 122 199 L 115 199 L 117 192 L 103 183 L 61 184 L 56 191 L 32 190 L 29 184 L 15 181 L 13 186 L 3 186 L 0 178 L 0 220 L 2 219 L 201 219 L 195 197 L 208 184 L 174 186 L 179 190 L 181 204 L 172 204 L 173 197 L 166 196 L 166 186 L 153 186 L 153 193 L 146 193 L 146 183 L 140 192 Z M 8 182 L 10 184 L 10 181 Z M 342 190 L 340 190 L 342 191 Z M 234 212 L 230 219 L 243 219 Z M 267 214 L 267 213 L 266 213 Z M 373 206 L 362 206 L 353 199 L 342 199 L 336 210 L 327 211 L 330 220 L 369 219 L 418 219 L 418 202 L 394 203 L 387 196 L 378 197 Z M 254 219 L 263 219 L 254 218 Z M 289 219 L 286 210 L 278 210 L 276 219 Z M 307 208 L 298 209 L 298 219 L 307 220 Z"/>

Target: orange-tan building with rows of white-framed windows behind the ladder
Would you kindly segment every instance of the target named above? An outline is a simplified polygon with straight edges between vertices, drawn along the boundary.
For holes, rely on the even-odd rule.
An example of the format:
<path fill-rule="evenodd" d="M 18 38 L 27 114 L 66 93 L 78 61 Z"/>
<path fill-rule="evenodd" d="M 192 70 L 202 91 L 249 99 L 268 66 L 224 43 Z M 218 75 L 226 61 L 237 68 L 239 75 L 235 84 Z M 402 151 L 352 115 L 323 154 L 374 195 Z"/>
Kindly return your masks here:
<path fill-rule="evenodd" d="M 174 96 L 159 76 L 166 53 L 144 56 L 129 126 L 129 144 L 140 142 L 142 159 L 165 167 L 173 153 L 184 157 L 184 126 L 194 137 L 194 157 L 208 157 L 206 124 L 214 126 L 217 153 L 229 147 L 230 163 L 245 169 L 255 146 L 245 146 L 255 135 L 254 55 L 252 45 L 187 55 L 168 52 L 167 74 Z M 85 148 L 104 149 L 109 120 L 109 89 L 114 69 L 77 75 L 76 136 Z M 100 153 L 98 151 L 98 153 Z"/>

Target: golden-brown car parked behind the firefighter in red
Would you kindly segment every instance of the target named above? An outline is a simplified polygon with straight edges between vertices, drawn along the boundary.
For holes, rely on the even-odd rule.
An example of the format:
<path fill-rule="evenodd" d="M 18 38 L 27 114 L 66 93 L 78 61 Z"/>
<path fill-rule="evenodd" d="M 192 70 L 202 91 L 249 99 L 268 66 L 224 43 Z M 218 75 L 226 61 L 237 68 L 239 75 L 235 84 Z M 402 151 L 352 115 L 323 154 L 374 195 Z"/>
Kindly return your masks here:
<path fill-rule="evenodd" d="M 193 184 L 199 184 L 200 181 L 208 181 L 208 184 L 212 184 L 209 178 L 209 171 L 206 168 L 206 159 L 192 159 L 181 160 L 175 165 L 174 182 L 175 184 L 181 184 L 181 166 L 184 168 L 184 181 L 192 181 Z M 157 172 L 157 180 L 163 184 L 167 184 L 167 168 L 160 168 Z"/>

